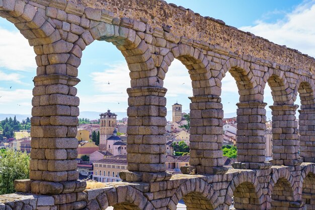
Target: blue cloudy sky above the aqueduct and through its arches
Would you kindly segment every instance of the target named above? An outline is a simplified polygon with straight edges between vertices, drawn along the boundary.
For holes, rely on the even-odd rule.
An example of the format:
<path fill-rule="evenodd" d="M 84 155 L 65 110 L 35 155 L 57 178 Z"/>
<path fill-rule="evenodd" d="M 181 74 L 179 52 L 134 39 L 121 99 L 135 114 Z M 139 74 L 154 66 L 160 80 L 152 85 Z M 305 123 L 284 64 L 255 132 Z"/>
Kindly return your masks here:
<path fill-rule="evenodd" d="M 221 19 L 227 25 L 315 56 L 315 29 L 312 27 L 315 25 L 314 0 L 167 2 L 189 8 L 202 16 Z M 0 113 L 31 113 L 32 79 L 36 75 L 34 57 L 32 47 L 14 25 L 0 18 Z M 114 112 L 126 111 L 129 70 L 114 45 L 96 41 L 88 46 L 83 52 L 78 78 L 82 81 L 76 86 L 81 111 L 105 112 L 108 108 Z M 236 112 L 239 96 L 237 90 L 231 88 L 235 87 L 235 82 L 229 75 L 222 82 L 224 112 Z M 169 89 L 167 108 L 171 109 L 172 104 L 178 101 L 183 104 L 184 110 L 189 109 L 191 81 L 182 63 L 177 60 L 172 63 L 164 84 Z M 268 106 L 272 104 L 268 88 L 265 102 Z M 296 104 L 299 104 L 298 100 Z M 170 117 L 167 119 L 170 120 Z"/>

